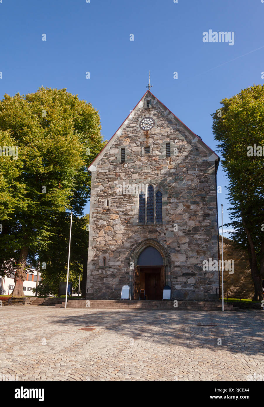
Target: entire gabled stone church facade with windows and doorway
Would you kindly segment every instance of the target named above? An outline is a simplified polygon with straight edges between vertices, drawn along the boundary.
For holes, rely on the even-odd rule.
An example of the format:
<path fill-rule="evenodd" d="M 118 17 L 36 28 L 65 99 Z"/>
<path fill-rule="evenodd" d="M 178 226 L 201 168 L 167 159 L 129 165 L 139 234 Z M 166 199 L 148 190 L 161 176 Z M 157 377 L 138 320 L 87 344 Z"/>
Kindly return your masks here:
<path fill-rule="evenodd" d="M 219 157 L 149 90 L 89 167 L 87 299 L 216 300 Z M 217 290 L 217 291 L 216 291 Z M 141 297 L 142 298 L 142 297 Z"/>

